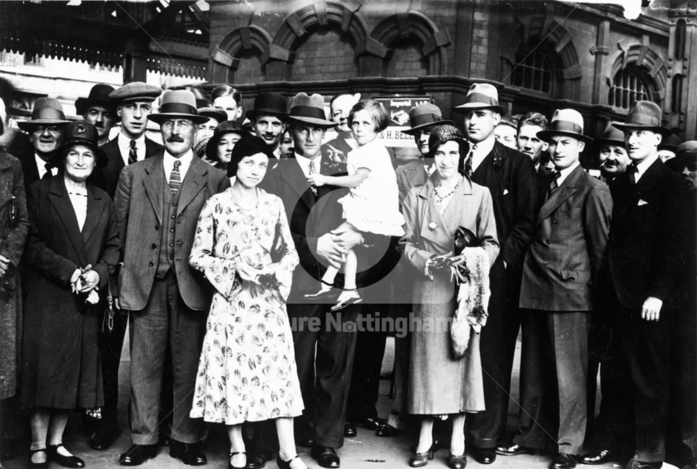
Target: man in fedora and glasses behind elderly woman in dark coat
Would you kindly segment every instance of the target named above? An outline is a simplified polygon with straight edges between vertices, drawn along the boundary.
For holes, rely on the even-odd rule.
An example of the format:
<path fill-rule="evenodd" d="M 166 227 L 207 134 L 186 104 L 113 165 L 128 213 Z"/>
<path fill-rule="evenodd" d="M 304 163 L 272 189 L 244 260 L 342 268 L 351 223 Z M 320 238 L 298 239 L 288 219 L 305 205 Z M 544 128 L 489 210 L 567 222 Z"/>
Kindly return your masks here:
<path fill-rule="evenodd" d="M 61 146 L 63 128 L 68 124 L 63 106 L 53 98 L 38 98 L 34 102 L 29 121 L 18 122 L 20 129 L 29 133 L 33 150 L 27 147 L 20 151 L 10 147 L 10 153 L 22 162 L 24 187 L 29 187 L 35 180 L 50 178 L 58 173 L 53 164 L 56 151 Z"/>

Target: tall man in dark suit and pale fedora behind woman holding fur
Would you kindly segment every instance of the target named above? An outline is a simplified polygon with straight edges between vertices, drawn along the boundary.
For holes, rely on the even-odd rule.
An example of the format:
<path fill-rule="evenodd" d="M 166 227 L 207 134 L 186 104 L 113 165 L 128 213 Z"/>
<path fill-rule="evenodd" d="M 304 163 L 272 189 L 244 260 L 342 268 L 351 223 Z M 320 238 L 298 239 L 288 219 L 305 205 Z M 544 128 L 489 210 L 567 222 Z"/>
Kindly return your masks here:
<path fill-rule="evenodd" d="M 475 460 L 490 464 L 496 445 L 505 438 L 508 394 L 520 318 L 518 295 L 523 256 L 533 228 L 537 184 L 529 157 L 496 141 L 493 130 L 507 109 L 498 104 L 496 87 L 473 84 L 455 112 L 464 114 L 470 152 L 461 155 L 460 169 L 473 182 L 489 188 L 496 215 L 501 252 L 491 267 L 489 322 L 482 329 L 480 352 L 487 410 L 470 422 Z"/>

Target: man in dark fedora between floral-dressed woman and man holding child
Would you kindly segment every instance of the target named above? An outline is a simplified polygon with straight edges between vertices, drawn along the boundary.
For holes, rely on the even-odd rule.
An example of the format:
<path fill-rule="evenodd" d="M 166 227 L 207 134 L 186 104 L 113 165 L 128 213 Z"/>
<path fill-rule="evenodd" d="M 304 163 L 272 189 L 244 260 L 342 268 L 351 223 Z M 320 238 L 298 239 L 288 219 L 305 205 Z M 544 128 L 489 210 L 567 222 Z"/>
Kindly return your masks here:
<path fill-rule="evenodd" d="M 277 160 L 281 159 L 281 137 L 283 137 L 284 118 L 288 115 L 288 100 L 279 93 L 259 93 L 254 98 L 254 107 L 247 111 L 256 137 L 261 138 Z M 277 164 L 277 162 L 276 162 Z M 269 163 L 273 169 L 275 164 Z"/>

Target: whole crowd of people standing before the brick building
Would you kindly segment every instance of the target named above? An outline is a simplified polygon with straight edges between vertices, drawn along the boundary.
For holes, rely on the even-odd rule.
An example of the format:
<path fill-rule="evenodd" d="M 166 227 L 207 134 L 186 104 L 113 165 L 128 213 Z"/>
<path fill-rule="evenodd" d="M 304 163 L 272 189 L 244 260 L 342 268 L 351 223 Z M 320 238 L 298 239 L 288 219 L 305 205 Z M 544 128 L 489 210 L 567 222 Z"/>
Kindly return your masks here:
<path fill-rule="evenodd" d="M 197 108 L 186 90 L 100 84 L 70 122 L 36 100 L 0 151 L 3 458 L 27 445 L 30 468 L 84 467 L 63 445 L 75 409 L 91 447 L 114 443 L 128 327 L 121 466 L 164 445 L 204 465 L 212 422 L 231 469 L 305 468 L 296 445 L 338 468 L 357 426 L 412 431 L 411 467 L 447 449 L 452 469 L 466 454 L 697 468 L 697 141 L 673 145 L 654 102 L 593 139 L 576 109 L 507 116 L 477 83 L 457 125 L 411 109 L 420 157 L 402 162 L 380 102 L 329 104 L 264 92 L 243 116 L 229 85 Z M 390 420 L 390 331 L 351 327 L 385 305 L 441 325 L 395 337 Z"/>

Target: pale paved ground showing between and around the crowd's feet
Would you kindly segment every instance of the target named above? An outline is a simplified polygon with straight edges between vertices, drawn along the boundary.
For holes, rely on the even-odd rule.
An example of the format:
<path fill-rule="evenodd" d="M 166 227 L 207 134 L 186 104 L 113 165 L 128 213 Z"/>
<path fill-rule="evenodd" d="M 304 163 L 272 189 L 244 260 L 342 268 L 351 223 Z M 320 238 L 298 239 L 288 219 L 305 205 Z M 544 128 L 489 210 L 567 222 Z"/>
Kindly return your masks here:
<path fill-rule="evenodd" d="M 126 335 L 128 337 L 128 335 Z M 518 348 L 520 348 L 520 343 Z M 385 353 L 385 362 L 383 364 L 383 369 L 390 369 L 390 364 L 392 362 L 393 353 L 392 342 L 388 343 L 388 351 Z M 128 348 L 124 349 L 123 362 L 121 367 L 121 409 L 126 409 L 128 400 L 128 367 L 130 365 L 130 360 L 128 357 Z M 519 350 L 516 353 L 516 364 L 514 369 L 518 369 L 519 364 Z M 514 390 L 512 394 L 514 397 L 517 396 L 517 382 L 518 374 L 514 372 Z M 386 416 L 390 409 L 390 399 L 388 397 L 390 382 L 388 380 L 383 380 L 381 383 L 381 397 L 378 403 L 378 409 L 381 415 Z M 512 403 L 510 408 L 510 414 L 513 416 L 516 413 L 515 404 Z M 127 428 L 125 425 L 125 410 L 122 410 L 122 426 Z M 514 420 L 510 420 L 510 425 L 514 426 Z M 86 444 L 86 438 L 82 434 L 82 429 L 80 426 L 80 420 L 77 415 L 74 415 L 70 423 L 68 424 L 68 429 L 66 429 L 66 435 L 64 438 L 66 447 L 70 448 L 72 452 L 79 455 L 84 459 L 86 467 L 88 469 L 109 469 L 118 468 L 118 454 L 124 452 L 128 447 L 130 447 L 130 438 L 128 432 L 123 432 L 121 438 L 116 441 L 116 443 L 105 451 L 95 451 L 91 449 Z M 410 453 L 410 447 L 415 443 L 415 436 L 404 435 L 397 438 L 377 438 L 370 431 L 364 429 L 358 429 L 358 436 L 355 438 L 346 438 L 346 443 L 342 449 L 339 450 L 339 456 L 342 458 L 342 468 L 345 469 L 391 469 L 391 468 L 408 468 L 407 461 Z M 229 444 L 227 443 L 227 434 L 224 431 L 222 425 L 211 426 L 210 427 L 210 437 L 208 438 L 208 443 L 206 444 L 206 455 L 208 456 L 208 466 L 207 468 L 223 469 L 227 468 L 227 453 L 229 452 Z M 303 461 L 307 464 L 308 468 L 319 468 L 320 466 L 309 456 L 309 450 L 298 447 L 298 454 Z M 434 461 L 429 462 L 429 468 L 445 468 L 445 460 L 447 459 L 447 450 L 441 450 L 436 453 L 436 458 Z M 487 466 L 490 469 L 498 468 L 533 468 L 533 469 L 545 469 L 549 463 L 549 459 L 544 456 L 498 456 L 496 462 Z M 10 461 L 3 461 L 3 467 L 5 469 L 24 469 L 26 468 L 26 452 L 22 452 L 20 456 Z M 58 469 L 55 463 L 49 466 L 49 469 Z M 173 459 L 169 456 L 169 452 L 166 447 L 163 447 L 160 454 L 155 459 L 144 463 L 140 466 L 143 469 L 183 469 L 184 466 L 178 459 Z M 276 467 L 275 462 L 270 461 L 266 463 L 266 467 L 274 469 Z M 471 457 L 468 457 L 468 467 L 477 468 L 484 467 L 477 462 L 475 462 Z M 584 466 L 579 466 L 583 468 Z M 585 466 L 590 467 L 590 466 Z M 607 464 L 606 466 L 598 466 L 602 468 L 618 468 L 617 464 Z M 664 464 L 664 468 L 673 468 L 674 466 L 669 466 Z"/>

